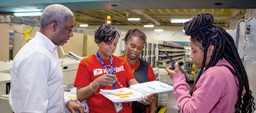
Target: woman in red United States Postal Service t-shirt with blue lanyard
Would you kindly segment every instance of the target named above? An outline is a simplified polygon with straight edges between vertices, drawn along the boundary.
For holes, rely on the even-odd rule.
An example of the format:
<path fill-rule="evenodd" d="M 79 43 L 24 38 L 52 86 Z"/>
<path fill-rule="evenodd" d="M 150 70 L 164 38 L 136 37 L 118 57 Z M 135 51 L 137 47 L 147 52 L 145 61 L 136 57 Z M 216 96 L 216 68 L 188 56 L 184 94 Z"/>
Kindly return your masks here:
<path fill-rule="evenodd" d="M 90 113 L 131 113 L 130 103 L 115 108 L 114 103 L 101 95 L 100 89 L 113 90 L 138 84 L 128 63 L 112 55 L 118 43 L 119 33 L 111 25 L 101 25 L 95 31 L 97 53 L 84 58 L 77 70 L 74 86 L 79 101 L 86 100 Z M 114 73 L 114 74 L 113 74 Z M 118 80 L 121 85 L 115 83 Z M 151 104 L 154 94 L 142 98 L 140 103 Z"/>

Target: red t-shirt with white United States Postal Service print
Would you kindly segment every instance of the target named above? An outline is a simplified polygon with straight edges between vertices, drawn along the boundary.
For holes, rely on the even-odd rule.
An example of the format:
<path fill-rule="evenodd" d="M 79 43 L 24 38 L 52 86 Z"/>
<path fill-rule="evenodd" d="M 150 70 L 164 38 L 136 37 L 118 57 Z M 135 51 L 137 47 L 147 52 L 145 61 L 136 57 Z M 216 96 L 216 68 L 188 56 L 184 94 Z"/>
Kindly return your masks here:
<path fill-rule="evenodd" d="M 132 71 L 126 60 L 123 58 L 116 57 L 112 55 L 113 58 L 113 66 L 114 66 L 114 74 L 116 75 L 118 81 L 123 85 L 123 87 L 128 86 L 128 81 L 135 78 L 133 76 Z M 110 59 L 102 59 L 107 68 L 111 72 Z M 74 86 L 88 86 L 92 81 L 96 78 L 108 74 L 108 71 L 104 68 L 104 66 L 97 59 L 95 54 L 90 55 L 88 58 L 84 58 L 77 70 L 76 79 Z M 116 89 L 122 88 L 118 83 L 116 83 Z M 107 99 L 103 95 L 100 94 L 100 89 L 103 90 L 113 90 L 112 86 L 103 86 L 97 89 L 96 92 L 86 100 L 88 104 L 90 113 L 116 113 L 114 108 L 114 104 L 111 100 Z M 122 103 L 123 109 L 119 111 L 119 113 L 131 113 L 132 110 L 130 108 L 130 103 Z"/>

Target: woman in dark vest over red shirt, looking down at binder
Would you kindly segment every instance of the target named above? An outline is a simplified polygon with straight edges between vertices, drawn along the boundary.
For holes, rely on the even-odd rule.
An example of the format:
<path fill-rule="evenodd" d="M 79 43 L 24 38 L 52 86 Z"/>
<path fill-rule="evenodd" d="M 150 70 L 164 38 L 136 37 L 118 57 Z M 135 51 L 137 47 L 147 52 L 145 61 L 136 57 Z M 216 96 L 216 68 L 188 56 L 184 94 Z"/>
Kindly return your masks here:
<path fill-rule="evenodd" d="M 149 62 L 139 59 L 142 49 L 147 42 L 144 32 L 137 28 L 130 29 L 126 33 L 124 41 L 126 43 L 126 54 L 122 58 L 127 60 L 136 80 L 139 83 L 156 81 L 156 76 Z M 156 96 L 157 94 L 154 95 L 154 100 L 150 105 L 140 104 L 137 101 L 132 102 L 133 113 L 155 113 Z"/>

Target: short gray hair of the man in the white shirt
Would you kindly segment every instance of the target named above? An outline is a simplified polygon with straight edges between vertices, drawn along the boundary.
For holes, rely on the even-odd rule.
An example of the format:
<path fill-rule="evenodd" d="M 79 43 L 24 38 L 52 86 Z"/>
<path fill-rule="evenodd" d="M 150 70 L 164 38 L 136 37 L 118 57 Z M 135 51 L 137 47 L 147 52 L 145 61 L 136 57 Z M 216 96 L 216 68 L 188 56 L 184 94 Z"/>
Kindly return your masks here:
<path fill-rule="evenodd" d="M 73 17 L 74 14 L 69 8 L 60 4 L 53 4 L 45 7 L 41 16 L 41 27 L 45 27 L 52 22 L 61 25 L 68 20 L 68 17 Z"/>

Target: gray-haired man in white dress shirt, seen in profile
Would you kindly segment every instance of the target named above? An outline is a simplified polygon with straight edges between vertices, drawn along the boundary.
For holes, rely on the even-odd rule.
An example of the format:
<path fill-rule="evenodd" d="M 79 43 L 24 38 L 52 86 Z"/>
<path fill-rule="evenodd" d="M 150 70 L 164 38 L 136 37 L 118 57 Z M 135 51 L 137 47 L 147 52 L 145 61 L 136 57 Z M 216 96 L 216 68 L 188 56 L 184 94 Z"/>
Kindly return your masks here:
<path fill-rule="evenodd" d="M 73 36 L 74 15 L 63 5 L 45 7 L 36 36 L 17 53 L 10 67 L 9 104 L 14 113 L 84 113 L 81 104 L 63 92 L 63 73 L 57 46 Z"/>

